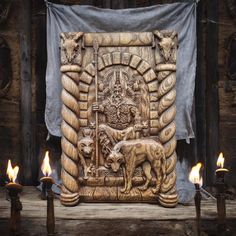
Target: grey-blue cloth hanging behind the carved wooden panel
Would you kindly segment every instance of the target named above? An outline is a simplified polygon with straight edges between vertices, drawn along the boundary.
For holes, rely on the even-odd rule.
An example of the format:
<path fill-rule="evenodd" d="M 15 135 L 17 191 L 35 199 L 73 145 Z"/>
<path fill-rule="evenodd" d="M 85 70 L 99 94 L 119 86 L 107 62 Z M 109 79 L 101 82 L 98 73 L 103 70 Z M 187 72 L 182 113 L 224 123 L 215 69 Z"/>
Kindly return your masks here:
<path fill-rule="evenodd" d="M 194 137 L 193 96 L 196 70 L 196 3 L 174 3 L 146 8 L 111 10 L 91 6 L 48 3 L 46 110 L 49 132 L 61 136 L 61 32 L 153 31 L 173 29 L 179 35 L 177 56 L 177 139 Z"/>

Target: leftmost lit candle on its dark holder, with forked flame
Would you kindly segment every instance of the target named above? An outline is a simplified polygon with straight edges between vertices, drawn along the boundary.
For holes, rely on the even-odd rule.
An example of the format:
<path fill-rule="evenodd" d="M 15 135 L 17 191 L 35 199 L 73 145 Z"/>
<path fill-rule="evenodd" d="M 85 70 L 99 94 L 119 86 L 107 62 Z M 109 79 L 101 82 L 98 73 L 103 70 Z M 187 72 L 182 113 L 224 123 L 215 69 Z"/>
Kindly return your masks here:
<path fill-rule="evenodd" d="M 12 168 L 11 160 L 8 160 L 7 175 L 10 182 L 6 185 L 8 194 L 11 200 L 11 218 L 10 218 L 10 232 L 12 235 L 20 234 L 20 211 L 22 204 L 20 202 L 19 193 L 22 191 L 22 185 L 16 183 L 19 167 Z"/>

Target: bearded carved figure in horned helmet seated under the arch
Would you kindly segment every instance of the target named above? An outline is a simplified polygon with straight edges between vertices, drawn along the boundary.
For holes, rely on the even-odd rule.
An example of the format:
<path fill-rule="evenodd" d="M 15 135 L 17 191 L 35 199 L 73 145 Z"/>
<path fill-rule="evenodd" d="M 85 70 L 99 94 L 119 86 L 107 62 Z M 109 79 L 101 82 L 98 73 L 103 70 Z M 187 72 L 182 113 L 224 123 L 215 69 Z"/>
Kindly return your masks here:
<path fill-rule="evenodd" d="M 126 81 L 121 71 L 114 71 L 109 84 L 110 96 L 101 103 L 94 103 L 93 111 L 105 116 L 105 124 L 99 124 L 99 140 L 102 153 L 107 156 L 119 141 L 137 138 L 141 131 L 140 113 L 136 104 L 126 96 Z"/>

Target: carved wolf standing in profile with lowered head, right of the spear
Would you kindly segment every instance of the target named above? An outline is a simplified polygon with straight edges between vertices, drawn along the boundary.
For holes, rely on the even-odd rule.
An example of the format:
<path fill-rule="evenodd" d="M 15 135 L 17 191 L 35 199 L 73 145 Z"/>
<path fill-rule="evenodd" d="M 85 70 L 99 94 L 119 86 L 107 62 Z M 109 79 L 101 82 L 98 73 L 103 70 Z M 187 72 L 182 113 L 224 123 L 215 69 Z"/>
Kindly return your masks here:
<path fill-rule="evenodd" d="M 149 163 L 149 164 L 148 164 Z M 123 168 L 125 186 L 123 193 L 129 193 L 132 187 L 132 177 L 137 166 L 143 165 L 146 183 L 141 190 L 146 190 L 151 181 L 151 169 L 156 175 L 156 186 L 153 193 L 158 193 L 161 183 L 166 177 L 166 159 L 164 147 L 153 139 L 135 139 L 117 143 L 107 158 L 108 166 L 114 172 Z"/>

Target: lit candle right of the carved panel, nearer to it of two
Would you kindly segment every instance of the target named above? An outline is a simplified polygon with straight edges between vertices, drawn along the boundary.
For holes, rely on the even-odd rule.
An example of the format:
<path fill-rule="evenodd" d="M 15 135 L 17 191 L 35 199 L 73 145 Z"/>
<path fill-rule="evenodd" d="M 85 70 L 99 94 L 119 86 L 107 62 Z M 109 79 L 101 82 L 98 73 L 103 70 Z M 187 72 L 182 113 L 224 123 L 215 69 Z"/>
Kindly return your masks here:
<path fill-rule="evenodd" d="M 201 163 L 192 167 L 192 170 L 189 174 L 189 181 L 192 182 L 195 186 L 196 193 L 194 196 L 195 208 L 196 208 L 196 223 L 197 223 L 197 235 L 201 235 L 201 199 L 202 195 L 200 193 L 200 187 L 202 186 L 203 180 L 200 177 L 200 169 L 202 167 Z"/>

